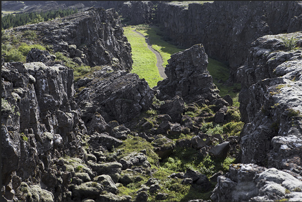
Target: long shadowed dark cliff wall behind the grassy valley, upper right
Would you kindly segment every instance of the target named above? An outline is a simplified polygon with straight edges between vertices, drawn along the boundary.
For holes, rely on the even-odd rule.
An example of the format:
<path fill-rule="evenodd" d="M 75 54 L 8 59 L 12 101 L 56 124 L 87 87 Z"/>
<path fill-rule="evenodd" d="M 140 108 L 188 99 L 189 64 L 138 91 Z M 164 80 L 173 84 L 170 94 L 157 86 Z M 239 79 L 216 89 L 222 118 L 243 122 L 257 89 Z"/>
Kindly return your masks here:
<path fill-rule="evenodd" d="M 228 62 L 236 81 L 236 69 L 245 62 L 251 42 L 302 30 L 302 4 L 217 1 L 185 7 L 160 2 L 156 19 L 177 45 L 189 48 L 201 43 L 209 57 Z"/>

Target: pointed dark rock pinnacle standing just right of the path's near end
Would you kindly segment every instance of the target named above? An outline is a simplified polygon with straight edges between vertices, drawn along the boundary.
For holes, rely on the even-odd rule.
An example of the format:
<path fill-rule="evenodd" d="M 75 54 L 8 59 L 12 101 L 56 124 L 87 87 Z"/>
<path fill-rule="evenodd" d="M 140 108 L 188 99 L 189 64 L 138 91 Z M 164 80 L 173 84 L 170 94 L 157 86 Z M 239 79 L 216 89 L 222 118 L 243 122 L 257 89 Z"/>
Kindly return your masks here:
<path fill-rule="evenodd" d="M 201 44 L 173 54 L 168 63 L 165 68 L 168 78 L 159 81 L 153 88 L 160 100 L 180 96 L 185 102 L 203 100 L 203 104 L 209 104 L 220 98 L 219 90 L 207 70 L 207 55 Z"/>

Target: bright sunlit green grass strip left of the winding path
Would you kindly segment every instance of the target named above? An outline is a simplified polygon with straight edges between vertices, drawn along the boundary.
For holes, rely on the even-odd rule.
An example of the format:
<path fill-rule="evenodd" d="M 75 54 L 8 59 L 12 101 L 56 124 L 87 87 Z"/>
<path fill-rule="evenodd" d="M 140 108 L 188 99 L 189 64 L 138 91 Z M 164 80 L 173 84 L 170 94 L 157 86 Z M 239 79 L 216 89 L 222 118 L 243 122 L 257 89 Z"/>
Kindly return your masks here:
<path fill-rule="evenodd" d="M 158 81 L 162 80 L 156 67 L 156 56 L 148 49 L 145 39 L 132 30 L 134 28 L 124 28 L 124 35 L 132 48 L 132 73 L 138 74 L 141 79 L 144 78 L 150 88 L 153 88 Z"/>

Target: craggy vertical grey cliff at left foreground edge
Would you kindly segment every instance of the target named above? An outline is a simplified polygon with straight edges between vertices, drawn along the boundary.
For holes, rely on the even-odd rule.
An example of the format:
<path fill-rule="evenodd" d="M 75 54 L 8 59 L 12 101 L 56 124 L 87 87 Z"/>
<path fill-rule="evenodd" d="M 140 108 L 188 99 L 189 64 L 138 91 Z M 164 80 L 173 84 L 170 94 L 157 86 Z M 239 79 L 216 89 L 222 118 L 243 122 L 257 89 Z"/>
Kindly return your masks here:
<path fill-rule="evenodd" d="M 60 64 L 3 64 L 2 180 L 7 199 L 16 199 L 21 182 L 41 182 L 42 189 L 36 188 L 51 200 L 64 192 L 54 191 L 62 185 L 57 177 L 63 173 L 51 167 L 63 155 L 83 155 L 80 142 L 87 133 L 74 93 L 73 70 Z"/>

